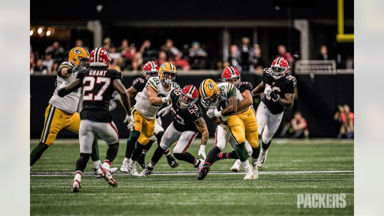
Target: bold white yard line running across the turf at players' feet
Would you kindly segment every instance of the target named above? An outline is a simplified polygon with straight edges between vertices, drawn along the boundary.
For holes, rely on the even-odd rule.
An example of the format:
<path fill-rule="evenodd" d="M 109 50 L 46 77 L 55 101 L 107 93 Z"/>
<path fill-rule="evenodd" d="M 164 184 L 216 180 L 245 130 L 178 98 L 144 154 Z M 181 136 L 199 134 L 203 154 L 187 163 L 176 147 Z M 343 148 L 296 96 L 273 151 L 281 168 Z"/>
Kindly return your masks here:
<path fill-rule="evenodd" d="M 353 174 L 353 170 L 312 170 L 312 171 L 264 171 L 259 172 L 259 174 L 333 174 L 333 173 L 349 173 Z M 151 175 L 195 175 L 196 172 L 190 172 L 190 171 L 184 171 L 184 172 L 156 172 L 152 173 Z M 244 174 L 244 172 L 209 172 L 209 174 Z M 74 173 L 72 172 L 63 172 L 63 173 L 30 173 L 30 176 L 73 176 Z M 94 175 L 94 173 L 83 173 L 83 176 L 91 176 Z M 127 175 L 131 176 L 126 173 L 114 173 L 113 175 Z"/>

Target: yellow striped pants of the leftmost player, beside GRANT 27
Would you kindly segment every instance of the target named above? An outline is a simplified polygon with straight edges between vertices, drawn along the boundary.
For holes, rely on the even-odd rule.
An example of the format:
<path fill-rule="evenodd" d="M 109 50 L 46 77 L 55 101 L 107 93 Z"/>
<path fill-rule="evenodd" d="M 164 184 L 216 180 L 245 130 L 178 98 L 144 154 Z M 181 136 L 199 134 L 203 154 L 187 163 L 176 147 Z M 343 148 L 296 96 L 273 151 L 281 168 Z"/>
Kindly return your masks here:
<path fill-rule="evenodd" d="M 51 104 L 45 110 L 44 130 L 40 141 L 50 146 L 56 140 L 57 133 L 66 128 L 75 133 L 79 133 L 80 115 L 67 113 Z"/>

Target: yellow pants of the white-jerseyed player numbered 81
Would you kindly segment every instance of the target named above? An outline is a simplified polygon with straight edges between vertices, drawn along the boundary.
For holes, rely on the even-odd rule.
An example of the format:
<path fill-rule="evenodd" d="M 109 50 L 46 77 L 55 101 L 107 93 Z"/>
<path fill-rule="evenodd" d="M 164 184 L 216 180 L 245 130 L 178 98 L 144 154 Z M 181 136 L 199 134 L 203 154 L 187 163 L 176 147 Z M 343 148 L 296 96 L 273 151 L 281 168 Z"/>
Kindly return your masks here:
<path fill-rule="evenodd" d="M 140 131 L 139 139 L 137 140 L 141 145 L 147 145 L 149 140 L 151 140 L 151 136 L 155 132 L 155 122 L 156 119 L 146 119 L 142 116 L 139 111 L 137 111 L 134 107 L 131 109 L 133 113 L 133 118 L 135 120 L 135 131 Z M 160 142 L 160 141 L 158 141 Z"/>

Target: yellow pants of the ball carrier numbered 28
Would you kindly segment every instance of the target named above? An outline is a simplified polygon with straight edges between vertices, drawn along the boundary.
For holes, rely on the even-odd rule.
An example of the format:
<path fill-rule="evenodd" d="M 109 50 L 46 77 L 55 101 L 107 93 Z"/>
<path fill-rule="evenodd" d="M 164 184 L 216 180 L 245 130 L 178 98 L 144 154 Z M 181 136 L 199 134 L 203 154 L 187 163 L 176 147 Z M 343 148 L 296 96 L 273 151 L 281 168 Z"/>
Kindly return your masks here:
<path fill-rule="evenodd" d="M 251 106 L 247 111 L 232 114 L 227 120 L 227 125 L 236 144 L 244 143 L 245 137 L 253 148 L 257 148 L 259 144 L 257 120 L 255 110 Z"/>

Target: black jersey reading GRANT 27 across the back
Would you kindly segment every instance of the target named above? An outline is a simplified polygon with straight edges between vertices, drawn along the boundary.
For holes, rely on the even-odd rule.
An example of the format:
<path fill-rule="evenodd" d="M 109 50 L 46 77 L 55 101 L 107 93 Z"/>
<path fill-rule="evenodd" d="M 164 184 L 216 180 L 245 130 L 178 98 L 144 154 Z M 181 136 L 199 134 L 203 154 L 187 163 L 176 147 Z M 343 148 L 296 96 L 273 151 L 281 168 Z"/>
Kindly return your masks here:
<path fill-rule="evenodd" d="M 111 122 L 109 100 L 115 91 L 113 81 L 122 79 L 121 72 L 106 67 L 91 67 L 79 71 L 77 78 L 81 80 L 83 87 L 83 110 L 81 110 L 80 118 Z"/>

